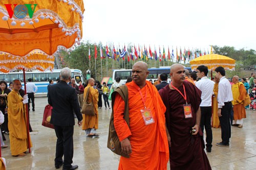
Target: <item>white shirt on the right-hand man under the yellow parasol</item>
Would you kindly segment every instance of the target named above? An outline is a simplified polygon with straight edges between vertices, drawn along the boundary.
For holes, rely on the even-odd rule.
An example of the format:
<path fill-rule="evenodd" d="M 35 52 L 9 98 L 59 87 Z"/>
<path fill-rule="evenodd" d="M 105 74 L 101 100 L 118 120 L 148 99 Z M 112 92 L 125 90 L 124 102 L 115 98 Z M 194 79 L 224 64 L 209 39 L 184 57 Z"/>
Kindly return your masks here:
<path fill-rule="evenodd" d="M 218 108 L 222 108 L 225 102 L 231 102 L 233 94 L 230 82 L 223 76 L 219 82 Z"/>

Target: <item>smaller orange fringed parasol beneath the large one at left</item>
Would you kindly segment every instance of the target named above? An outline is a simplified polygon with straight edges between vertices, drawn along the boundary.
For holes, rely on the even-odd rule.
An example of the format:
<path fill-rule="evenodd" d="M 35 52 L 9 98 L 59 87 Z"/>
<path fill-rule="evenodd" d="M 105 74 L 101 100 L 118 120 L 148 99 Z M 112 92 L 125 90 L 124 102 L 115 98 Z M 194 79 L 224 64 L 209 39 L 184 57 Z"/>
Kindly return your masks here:
<path fill-rule="evenodd" d="M 14 56 L 9 53 L 0 52 L 0 71 L 10 72 L 15 69 L 38 69 L 40 71 L 53 70 L 54 56 L 48 56 L 40 50 L 33 50 L 26 56 Z"/>

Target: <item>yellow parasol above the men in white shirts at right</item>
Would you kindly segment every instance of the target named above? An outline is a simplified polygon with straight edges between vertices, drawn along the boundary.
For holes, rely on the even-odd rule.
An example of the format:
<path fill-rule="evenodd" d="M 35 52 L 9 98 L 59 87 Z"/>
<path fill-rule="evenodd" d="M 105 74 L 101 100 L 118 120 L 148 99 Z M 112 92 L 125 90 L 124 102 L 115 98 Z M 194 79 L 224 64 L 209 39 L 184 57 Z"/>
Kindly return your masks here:
<path fill-rule="evenodd" d="M 205 65 L 209 70 L 222 66 L 228 70 L 234 70 L 236 60 L 219 54 L 207 54 L 190 61 L 191 69 L 195 70 L 200 65 Z"/>

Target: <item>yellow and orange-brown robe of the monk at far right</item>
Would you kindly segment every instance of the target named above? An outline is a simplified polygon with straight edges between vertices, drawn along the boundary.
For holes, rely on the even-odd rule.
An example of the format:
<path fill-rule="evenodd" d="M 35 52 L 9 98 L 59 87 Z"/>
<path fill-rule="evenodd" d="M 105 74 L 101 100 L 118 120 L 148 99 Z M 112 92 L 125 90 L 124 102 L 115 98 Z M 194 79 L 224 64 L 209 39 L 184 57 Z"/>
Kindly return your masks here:
<path fill-rule="evenodd" d="M 246 118 L 246 111 L 243 105 L 243 101 L 245 100 L 246 90 L 244 88 L 244 84 L 238 82 L 232 85 L 232 94 L 233 94 L 233 119 L 239 120 L 242 118 Z"/>

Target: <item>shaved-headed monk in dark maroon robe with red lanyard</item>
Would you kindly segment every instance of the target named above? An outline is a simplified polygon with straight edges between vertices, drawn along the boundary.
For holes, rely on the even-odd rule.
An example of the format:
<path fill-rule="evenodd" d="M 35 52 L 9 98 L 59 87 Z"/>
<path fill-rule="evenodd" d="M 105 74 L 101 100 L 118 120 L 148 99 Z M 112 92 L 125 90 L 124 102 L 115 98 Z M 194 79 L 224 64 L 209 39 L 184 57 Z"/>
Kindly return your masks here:
<path fill-rule="evenodd" d="M 166 106 L 170 169 L 211 169 L 200 129 L 201 91 L 185 80 L 181 64 L 170 67 L 172 82 L 159 90 Z"/>

